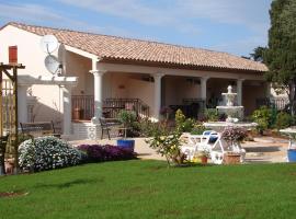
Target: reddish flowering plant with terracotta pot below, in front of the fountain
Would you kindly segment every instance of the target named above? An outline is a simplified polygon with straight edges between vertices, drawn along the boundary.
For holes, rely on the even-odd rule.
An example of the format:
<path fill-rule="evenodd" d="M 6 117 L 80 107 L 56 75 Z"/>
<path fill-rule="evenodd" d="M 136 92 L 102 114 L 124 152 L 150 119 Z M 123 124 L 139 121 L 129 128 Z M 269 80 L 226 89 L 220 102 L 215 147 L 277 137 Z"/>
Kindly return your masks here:
<path fill-rule="evenodd" d="M 247 130 L 240 127 L 227 127 L 221 137 L 229 143 L 230 152 L 224 154 L 224 163 L 234 164 L 241 161 L 241 141 L 247 137 Z"/>

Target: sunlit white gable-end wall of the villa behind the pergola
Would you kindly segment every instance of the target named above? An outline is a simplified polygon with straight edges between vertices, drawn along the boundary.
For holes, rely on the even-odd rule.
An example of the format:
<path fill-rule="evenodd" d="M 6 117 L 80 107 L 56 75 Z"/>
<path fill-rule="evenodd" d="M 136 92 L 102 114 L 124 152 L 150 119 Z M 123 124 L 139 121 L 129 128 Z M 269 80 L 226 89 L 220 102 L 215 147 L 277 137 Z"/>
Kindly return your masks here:
<path fill-rule="evenodd" d="M 20 69 L 19 74 L 33 77 L 52 76 L 44 65 L 46 54 L 39 47 L 41 36 L 22 31 L 14 26 L 5 26 L 0 30 L 0 62 L 9 62 L 9 46 L 18 46 L 18 62 L 25 69 Z M 57 51 L 53 54 L 57 56 Z M 35 105 L 35 120 L 60 122 L 62 103 L 60 103 L 60 90 L 57 85 L 33 85 L 32 95 L 37 97 Z M 59 111 L 59 112 L 58 112 Z"/>

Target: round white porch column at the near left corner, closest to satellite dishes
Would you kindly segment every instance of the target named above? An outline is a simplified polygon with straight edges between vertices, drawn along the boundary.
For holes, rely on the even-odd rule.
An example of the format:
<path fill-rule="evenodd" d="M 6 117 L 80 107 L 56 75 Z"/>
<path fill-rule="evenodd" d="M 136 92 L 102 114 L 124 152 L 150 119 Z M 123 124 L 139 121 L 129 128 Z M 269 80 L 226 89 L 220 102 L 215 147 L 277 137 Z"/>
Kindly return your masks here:
<path fill-rule="evenodd" d="M 103 74 L 104 71 L 91 70 L 94 77 L 94 117 L 91 119 L 93 124 L 99 124 L 99 118 L 103 113 Z"/>

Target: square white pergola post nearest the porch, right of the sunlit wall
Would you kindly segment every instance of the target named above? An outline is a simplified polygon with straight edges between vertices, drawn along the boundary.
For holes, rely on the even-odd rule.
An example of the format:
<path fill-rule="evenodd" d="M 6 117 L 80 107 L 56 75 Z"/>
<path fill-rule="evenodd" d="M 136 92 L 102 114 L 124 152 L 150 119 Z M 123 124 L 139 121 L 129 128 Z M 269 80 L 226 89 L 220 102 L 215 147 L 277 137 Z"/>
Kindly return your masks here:
<path fill-rule="evenodd" d="M 62 134 L 65 137 L 71 135 L 71 123 L 72 123 L 72 103 L 71 103 L 71 85 L 65 85 L 62 88 Z"/>

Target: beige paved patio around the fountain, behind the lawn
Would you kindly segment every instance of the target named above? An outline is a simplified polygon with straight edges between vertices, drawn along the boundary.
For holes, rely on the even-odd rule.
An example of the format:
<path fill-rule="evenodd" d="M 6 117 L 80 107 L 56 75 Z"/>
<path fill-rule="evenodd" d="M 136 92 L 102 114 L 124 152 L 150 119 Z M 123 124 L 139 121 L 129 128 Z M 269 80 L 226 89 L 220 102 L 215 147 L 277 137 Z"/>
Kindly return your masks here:
<path fill-rule="evenodd" d="M 139 154 L 140 159 L 156 159 L 164 160 L 161 155 L 157 154 L 155 150 L 149 148 L 145 142 L 145 138 L 135 138 L 135 151 Z M 82 143 L 100 143 L 100 145 L 116 145 L 116 139 L 107 140 L 76 140 L 70 141 L 73 146 Z M 242 148 L 246 149 L 247 163 L 278 163 L 286 162 L 286 150 L 288 146 L 287 139 L 260 137 L 254 138 L 254 141 L 246 141 Z"/>

